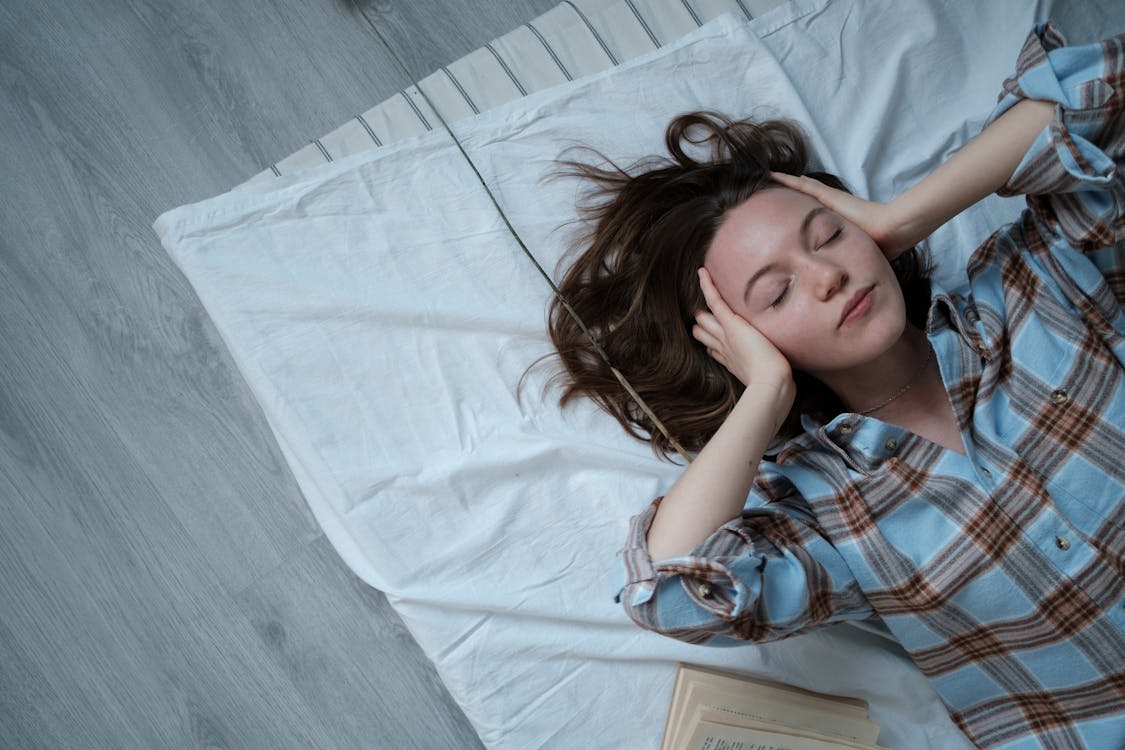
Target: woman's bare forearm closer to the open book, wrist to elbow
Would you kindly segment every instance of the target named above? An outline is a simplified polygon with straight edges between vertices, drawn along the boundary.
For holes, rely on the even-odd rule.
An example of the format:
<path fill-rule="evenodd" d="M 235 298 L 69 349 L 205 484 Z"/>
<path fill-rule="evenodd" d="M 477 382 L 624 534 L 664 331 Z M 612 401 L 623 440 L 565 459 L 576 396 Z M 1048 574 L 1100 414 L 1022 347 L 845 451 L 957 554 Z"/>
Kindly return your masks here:
<path fill-rule="evenodd" d="M 792 403 L 790 385 L 750 386 L 668 494 L 648 532 L 652 560 L 687 554 L 738 517 L 758 463 Z"/>

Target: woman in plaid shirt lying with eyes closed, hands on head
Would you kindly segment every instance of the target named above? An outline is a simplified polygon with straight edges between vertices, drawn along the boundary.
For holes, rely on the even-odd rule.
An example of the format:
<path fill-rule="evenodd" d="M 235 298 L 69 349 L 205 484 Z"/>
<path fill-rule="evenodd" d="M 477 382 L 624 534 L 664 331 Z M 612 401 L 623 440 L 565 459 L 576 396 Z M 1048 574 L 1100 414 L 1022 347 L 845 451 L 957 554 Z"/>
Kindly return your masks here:
<path fill-rule="evenodd" d="M 598 187 L 564 400 L 695 460 L 632 522 L 621 599 L 693 643 L 879 620 L 980 747 L 1125 747 L 1125 38 L 1028 38 L 990 125 L 885 205 L 783 123 L 696 114 Z M 705 143 L 696 161 L 684 142 Z M 1027 209 L 963 283 L 915 243 Z M 702 450 L 700 450 L 702 449 Z"/>

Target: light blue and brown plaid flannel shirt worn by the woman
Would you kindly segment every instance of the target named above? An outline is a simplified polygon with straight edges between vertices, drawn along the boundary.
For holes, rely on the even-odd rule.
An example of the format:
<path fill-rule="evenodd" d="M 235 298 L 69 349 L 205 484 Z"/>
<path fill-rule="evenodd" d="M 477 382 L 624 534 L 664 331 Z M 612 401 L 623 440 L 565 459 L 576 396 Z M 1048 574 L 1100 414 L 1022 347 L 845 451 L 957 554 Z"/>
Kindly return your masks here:
<path fill-rule="evenodd" d="M 806 422 L 740 518 L 619 598 L 693 643 L 878 618 L 982 748 L 1125 748 L 1125 37 L 1037 27 L 992 119 L 1055 118 L 1005 187 L 1022 218 L 935 288 L 927 334 L 965 455 L 857 414 Z"/>

